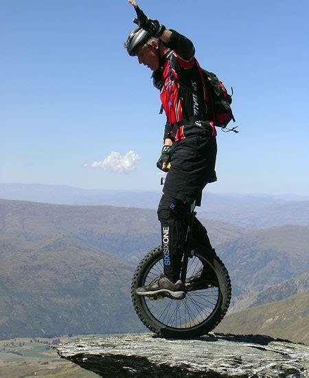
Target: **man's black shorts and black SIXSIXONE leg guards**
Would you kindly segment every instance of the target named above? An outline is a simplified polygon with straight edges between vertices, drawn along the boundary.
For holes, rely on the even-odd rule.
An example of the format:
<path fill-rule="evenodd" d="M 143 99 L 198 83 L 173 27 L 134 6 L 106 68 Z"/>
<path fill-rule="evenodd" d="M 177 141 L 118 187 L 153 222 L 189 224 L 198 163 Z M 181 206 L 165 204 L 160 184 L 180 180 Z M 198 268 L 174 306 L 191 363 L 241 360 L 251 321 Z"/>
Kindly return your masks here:
<path fill-rule="evenodd" d="M 172 147 L 172 159 L 159 203 L 164 274 L 172 282 L 179 280 L 187 222 L 194 200 L 201 205 L 207 183 L 216 181 L 216 138 L 194 136 Z M 205 227 L 196 219 L 193 237 L 212 249 Z"/>

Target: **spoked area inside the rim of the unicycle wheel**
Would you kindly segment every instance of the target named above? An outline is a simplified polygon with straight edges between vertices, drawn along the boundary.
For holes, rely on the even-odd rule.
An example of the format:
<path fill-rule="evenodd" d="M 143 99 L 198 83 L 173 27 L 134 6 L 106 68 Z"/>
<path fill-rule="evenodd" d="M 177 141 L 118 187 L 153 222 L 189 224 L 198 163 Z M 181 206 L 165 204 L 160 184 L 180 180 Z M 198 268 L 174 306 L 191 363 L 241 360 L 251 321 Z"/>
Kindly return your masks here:
<path fill-rule="evenodd" d="M 187 277 L 196 274 L 203 267 L 201 258 L 190 258 L 187 266 Z M 158 258 L 146 274 L 143 285 L 148 285 L 154 278 L 163 272 L 163 260 Z M 183 300 L 163 298 L 151 300 L 141 297 L 145 301 L 148 311 L 158 322 L 171 329 L 192 329 L 210 318 L 216 313 L 220 304 L 220 289 L 211 287 L 197 291 L 187 291 Z"/>

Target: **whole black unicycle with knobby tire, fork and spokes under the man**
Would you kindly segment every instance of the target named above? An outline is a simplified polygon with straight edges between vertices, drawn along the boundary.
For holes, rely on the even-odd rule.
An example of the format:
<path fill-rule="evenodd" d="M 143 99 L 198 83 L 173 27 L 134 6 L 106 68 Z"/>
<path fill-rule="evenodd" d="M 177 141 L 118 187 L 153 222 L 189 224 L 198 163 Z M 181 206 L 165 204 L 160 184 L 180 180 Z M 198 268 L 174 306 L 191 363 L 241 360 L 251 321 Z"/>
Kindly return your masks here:
<path fill-rule="evenodd" d="M 183 253 L 181 280 L 185 282 L 183 299 L 168 296 L 138 296 L 135 289 L 148 285 L 163 273 L 161 245 L 141 260 L 131 286 L 133 305 L 139 319 L 160 337 L 185 339 L 205 335 L 224 318 L 231 300 L 229 273 L 214 250 L 205 251 L 192 237 L 195 203 L 192 205 Z M 206 281 L 194 282 L 203 269 Z"/>

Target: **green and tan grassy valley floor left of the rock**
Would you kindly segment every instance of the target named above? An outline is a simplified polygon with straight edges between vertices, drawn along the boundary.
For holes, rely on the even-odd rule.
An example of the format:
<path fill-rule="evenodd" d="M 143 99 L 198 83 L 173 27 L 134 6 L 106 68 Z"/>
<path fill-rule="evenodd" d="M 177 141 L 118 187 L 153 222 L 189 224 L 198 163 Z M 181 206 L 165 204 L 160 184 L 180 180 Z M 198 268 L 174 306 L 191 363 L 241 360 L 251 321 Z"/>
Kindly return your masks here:
<path fill-rule="evenodd" d="M 76 337 L 60 337 L 60 343 L 65 344 L 74 339 Z M 56 343 L 58 339 L 0 340 L 0 377 L 98 377 L 66 359 L 60 359 L 56 351 L 49 347 L 53 341 Z"/>

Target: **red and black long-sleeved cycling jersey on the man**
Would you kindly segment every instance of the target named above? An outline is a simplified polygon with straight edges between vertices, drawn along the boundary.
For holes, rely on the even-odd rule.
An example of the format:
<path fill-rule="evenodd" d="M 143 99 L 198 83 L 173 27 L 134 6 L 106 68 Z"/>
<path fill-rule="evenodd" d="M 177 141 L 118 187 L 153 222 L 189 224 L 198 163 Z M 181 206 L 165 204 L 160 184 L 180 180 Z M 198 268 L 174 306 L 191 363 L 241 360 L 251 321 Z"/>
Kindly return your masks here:
<path fill-rule="evenodd" d="M 207 119 L 207 93 L 201 69 L 196 58 L 190 57 L 193 44 L 181 34 L 177 41 L 177 50 L 174 48 L 163 57 L 161 67 L 153 75 L 167 118 L 164 139 L 177 142 L 191 135 L 205 135 L 205 129 L 216 136 L 213 122 Z"/>

